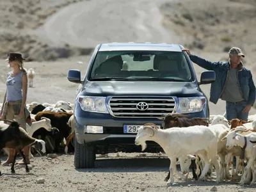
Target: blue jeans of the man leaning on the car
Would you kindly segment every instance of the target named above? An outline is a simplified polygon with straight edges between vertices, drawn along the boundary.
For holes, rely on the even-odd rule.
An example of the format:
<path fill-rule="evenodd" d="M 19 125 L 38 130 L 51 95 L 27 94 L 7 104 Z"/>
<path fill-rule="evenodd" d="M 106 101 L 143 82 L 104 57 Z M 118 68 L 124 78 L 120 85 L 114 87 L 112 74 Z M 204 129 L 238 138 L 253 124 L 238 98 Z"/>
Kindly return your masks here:
<path fill-rule="evenodd" d="M 226 102 L 226 113 L 227 113 L 227 120 L 232 120 L 233 118 L 239 118 L 241 120 L 248 120 L 249 113 L 243 113 L 243 109 L 246 107 L 246 101 L 240 102 Z"/>

